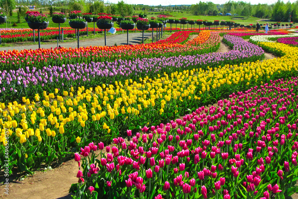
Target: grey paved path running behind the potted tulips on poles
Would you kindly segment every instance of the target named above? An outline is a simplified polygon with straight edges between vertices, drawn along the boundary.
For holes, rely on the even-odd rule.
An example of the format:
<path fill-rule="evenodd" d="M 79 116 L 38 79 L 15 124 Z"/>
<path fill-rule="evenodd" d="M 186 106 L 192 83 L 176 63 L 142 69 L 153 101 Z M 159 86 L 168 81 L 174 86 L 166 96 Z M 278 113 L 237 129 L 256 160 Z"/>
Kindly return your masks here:
<path fill-rule="evenodd" d="M 156 38 L 156 32 L 153 33 L 154 38 Z M 144 33 L 144 40 L 146 38 L 152 38 L 152 33 Z M 163 37 L 164 38 L 164 37 Z M 142 33 L 128 33 L 128 44 L 139 44 L 142 41 Z M 114 46 L 115 43 L 119 45 L 126 45 L 127 44 L 127 35 L 120 34 L 120 35 L 109 35 L 107 36 L 107 46 Z M 59 42 L 59 45 L 61 47 L 77 47 L 77 41 L 75 42 Z M 85 39 L 80 41 L 80 47 L 83 46 L 104 46 L 105 45 L 105 38 L 93 38 L 93 39 Z M 57 43 L 51 43 L 51 44 L 41 44 L 41 48 L 56 48 Z M 38 49 L 37 45 L 28 45 L 28 46 L 14 46 L 14 47 L 0 47 L 0 51 L 3 50 L 35 50 Z"/>

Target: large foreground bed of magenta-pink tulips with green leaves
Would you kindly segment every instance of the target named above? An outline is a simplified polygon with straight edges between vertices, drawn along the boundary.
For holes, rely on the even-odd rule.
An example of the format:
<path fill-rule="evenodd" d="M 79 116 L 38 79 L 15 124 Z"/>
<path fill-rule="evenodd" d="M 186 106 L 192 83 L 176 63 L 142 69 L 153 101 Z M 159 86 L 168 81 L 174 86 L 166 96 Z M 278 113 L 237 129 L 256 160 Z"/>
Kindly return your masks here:
<path fill-rule="evenodd" d="M 78 198 L 284 198 L 296 192 L 297 83 L 233 93 L 132 138 L 127 130 L 129 144 L 92 142 L 75 154 L 78 183 L 70 191 Z M 94 154 L 104 148 L 106 155 Z"/>

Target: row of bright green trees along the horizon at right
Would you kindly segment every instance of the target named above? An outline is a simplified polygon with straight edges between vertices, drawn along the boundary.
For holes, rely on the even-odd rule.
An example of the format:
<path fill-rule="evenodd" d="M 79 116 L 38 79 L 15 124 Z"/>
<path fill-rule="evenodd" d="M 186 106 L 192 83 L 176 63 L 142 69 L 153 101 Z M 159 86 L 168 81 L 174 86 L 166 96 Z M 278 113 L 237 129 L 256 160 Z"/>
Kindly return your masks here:
<path fill-rule="evenodd" d="M 252 5 L 243 1 L 228 1 L 225 4 L 202 2 L 190 7 L 193 15 L 217 15 L 219 12 L 231 13 L 239 16 L 253 16 L 258 18 L 273 18 L 275 21 L 288 21 L 291 13 L 291 21 L 298 21 L 298 0 L 294 3 L 284 3 L 278 0 L 274 4 Z"/>

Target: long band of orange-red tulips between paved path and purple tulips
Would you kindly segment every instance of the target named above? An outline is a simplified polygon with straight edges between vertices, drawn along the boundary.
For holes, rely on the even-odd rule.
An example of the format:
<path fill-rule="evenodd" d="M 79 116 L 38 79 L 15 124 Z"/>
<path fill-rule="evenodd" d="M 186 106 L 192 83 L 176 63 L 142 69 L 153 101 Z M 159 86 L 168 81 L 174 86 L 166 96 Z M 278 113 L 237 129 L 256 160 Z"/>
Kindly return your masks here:
<path fill-rule="evenodd" d="M 199 35 L 205 33 L 199 33 Z M 189 34 L 181 32 L 184 40 Z M 170 41 L 171 39 L 168 39 Z M 183 40 L 182 40 L 183 41 Z M 59 48 L 59 49 L 41 49 L 41 50 L 13 50 L 2 51 L 0 53 L 0 70 L 16 70 L 26 66 L 34 66 L 37 69 L 47 67 L 48 65 L 62 65 L 76 63 L 90 63 L 91 61 L 114 61 L 116 58 L 130 60 L 132 58 L 152 58 L 160 56 L 175 55 L 194 55 L 209 53 L 206 47 L 200 45 L 182 45 L 172 40 L 168 43 L 161 44 L 140 44 L 127 46 L 112 47 L 81 47 L 77 48 Z"/>

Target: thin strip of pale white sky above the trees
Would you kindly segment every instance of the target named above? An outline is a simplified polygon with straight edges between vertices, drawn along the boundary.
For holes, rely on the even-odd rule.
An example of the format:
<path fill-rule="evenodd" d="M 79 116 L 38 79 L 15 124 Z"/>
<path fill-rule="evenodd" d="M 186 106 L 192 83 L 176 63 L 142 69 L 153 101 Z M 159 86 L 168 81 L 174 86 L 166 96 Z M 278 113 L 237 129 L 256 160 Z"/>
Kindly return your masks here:
<path fill-rule="evenodd" d="M 127 4 L 144 4 L 144 5 L 162 5 L 162 6 L 166 6 L 166 5 L 181 5 L 181 4 L 196 4 L 199 2 L 199 0 L 187 0 L 187 1 L 181 1 L 181 0 L 123 0 L 124 2 L 126 2 Z M 203 0 L 204 1 L 204 0 Z M 212 1 L 213 3 L 215 4 L 224 4 L 225 2 L 227 2 L 227 0 L 207 0 L 207 1 Z M 204 1 L 204 2 L 207 2 L 207 1 Z M 235 0 L 234 0 L 235 1 Z M 236 0 L 238 1 L 238 0 Z M 245 1 L 245 0 L 243 0 Z M 261 4 L 264 4 L 264 3 L 267 3 L 267 4 L 273 4 L 275 3 L 277 0 L 250 0 L 250 1 L 246 1 L 246 2 L 250 2 L 251 4 L 258 4 L 258 3 L 261 3 Z M 293 3 L 294 1 L 297 1 L 297 0 L 290 0 L 291 3 Z M 118 0 L 105 0 L 105 2 L 111 2 L 111 3 L 117 3 Z M 288 2 L 288 0 L 284 0 L 284 2 Z"/>

